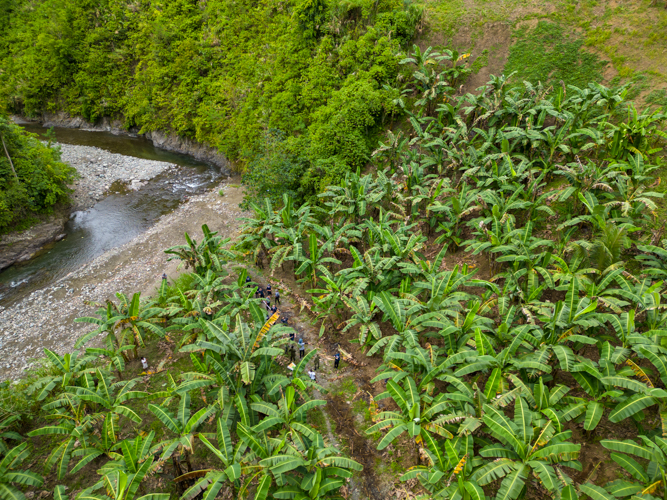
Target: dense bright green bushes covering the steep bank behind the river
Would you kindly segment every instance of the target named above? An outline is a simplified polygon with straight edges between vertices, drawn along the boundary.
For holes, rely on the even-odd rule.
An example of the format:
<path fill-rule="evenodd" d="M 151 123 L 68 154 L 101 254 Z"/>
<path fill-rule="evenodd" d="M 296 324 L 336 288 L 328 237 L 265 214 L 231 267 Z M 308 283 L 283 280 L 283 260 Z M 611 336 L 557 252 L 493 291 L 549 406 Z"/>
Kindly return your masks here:
<path fill-rule="evenodd" d="M 396 111 L 384 84 L 421 20 L 402 0 L 1 4 L 10 112 L 172 130 L 247 165 L 263 194 L 289 171 L 277 200 L 316 195 L 322 178 L 365 164 Z"/>

